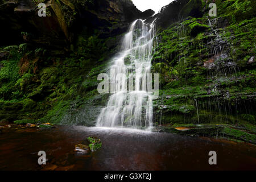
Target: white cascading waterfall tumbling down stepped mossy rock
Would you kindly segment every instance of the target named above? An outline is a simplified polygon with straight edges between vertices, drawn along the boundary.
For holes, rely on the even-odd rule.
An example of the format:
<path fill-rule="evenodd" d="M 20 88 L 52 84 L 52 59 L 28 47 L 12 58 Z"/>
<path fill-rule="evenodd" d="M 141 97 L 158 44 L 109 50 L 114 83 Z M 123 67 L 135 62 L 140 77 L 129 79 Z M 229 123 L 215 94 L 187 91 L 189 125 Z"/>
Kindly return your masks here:
<path fill-rule="evenodd" d="M 110 68 L 114 70 L 110 77 L 115 80 L 115 92 L 110 96 L 108 105 L 101 110 L 98 127 L 152 126 L 152 95 L 142 85 L 151 70 L 154 24 L 155 20 L 152 24 L 135 20 L 124 36 L 122 51 L 113 59 Z M 120 73 L 126 75 L 125 80 L 115 79 Z M 127 90 L 129 78 L 133 80 L 133 90 Z"/>

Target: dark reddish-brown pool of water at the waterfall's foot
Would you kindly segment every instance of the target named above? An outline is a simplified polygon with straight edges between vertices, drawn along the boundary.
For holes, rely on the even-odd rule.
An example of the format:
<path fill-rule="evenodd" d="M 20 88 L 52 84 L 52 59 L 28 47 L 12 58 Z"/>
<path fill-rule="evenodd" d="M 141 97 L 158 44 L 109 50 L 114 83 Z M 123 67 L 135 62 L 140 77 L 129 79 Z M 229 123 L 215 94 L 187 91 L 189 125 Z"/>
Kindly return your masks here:
<path fill-rule="evenodd" d="M 76 144 L 98 137 L 102 148 L 76 155 Z M 47 165 L 39 166 L 38 151 Z M 217 165 L 208 163 L 217 152 Z M 57 126 L 6 129 L 0 134 L 0 170 L 256 170 L 256 146 L 224 139 L 183 137 L 138 130 Z"/>

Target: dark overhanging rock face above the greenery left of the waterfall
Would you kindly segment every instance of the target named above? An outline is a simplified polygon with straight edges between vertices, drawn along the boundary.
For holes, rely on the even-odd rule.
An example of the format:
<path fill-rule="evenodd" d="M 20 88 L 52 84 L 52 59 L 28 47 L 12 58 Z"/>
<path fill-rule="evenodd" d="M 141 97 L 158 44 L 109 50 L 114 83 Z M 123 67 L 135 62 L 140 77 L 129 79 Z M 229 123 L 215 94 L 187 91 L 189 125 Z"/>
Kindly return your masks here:
<path fill-rule="evenodd" d="M 142 13 L 130 0 L 42 2 L 46 4 L 46 17 L 38 16 L 37 1 L 1 3 L 2 45 L 24 39 L 48 48 L 69 49 L 77 34 L 94 34 L 97 29 L 101 38 L 115 36 L 127 31 L 134 19 L 146 19 L 154 14 L 152 10 Z"/>

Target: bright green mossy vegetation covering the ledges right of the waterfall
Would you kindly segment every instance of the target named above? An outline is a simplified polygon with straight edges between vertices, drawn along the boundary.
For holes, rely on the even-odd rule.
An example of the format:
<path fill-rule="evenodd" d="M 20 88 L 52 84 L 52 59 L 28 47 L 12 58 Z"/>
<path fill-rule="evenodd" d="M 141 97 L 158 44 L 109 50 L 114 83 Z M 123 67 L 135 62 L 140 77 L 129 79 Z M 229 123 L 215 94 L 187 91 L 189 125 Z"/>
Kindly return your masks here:
<path fill-rule="evenodd" d="M 152 60 L 161 82 L 156 125 L 229 123 L 255 131 L 255 62 L 249 64 L 256 52 L 254 5 L 216 4 L 217 18 L 205 8 L 202 17 L 158 30 Z"/>

